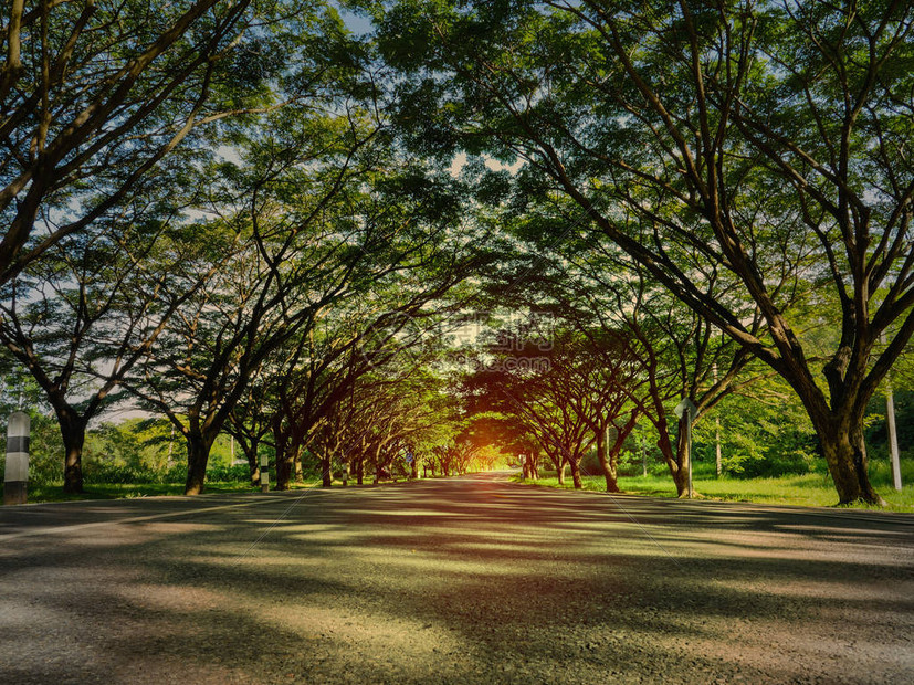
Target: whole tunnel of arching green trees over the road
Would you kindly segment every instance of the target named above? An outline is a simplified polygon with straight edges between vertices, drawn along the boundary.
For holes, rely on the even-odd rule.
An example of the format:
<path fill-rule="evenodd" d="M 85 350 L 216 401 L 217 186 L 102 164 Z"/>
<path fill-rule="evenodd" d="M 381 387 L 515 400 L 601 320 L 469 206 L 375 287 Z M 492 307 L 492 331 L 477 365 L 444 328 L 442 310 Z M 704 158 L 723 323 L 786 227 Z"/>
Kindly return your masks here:
<path fill-rule="evenodd" d="M 511 463 L 616 492 L 649 454 L 682 496 L 687 398 L 718 468 L 882 503 L 910 3 L 9 9 L 0 403 L 64 491 L 123 453 L 198 494 L 229 440 L 281 489 Z"/>

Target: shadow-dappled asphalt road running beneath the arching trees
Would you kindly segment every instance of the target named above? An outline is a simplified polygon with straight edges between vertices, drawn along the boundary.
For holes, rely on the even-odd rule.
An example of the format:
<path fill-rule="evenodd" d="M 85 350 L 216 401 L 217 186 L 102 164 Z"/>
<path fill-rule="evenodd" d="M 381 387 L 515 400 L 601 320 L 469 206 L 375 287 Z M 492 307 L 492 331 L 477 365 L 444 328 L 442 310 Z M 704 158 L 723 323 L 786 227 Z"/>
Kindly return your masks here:
<path fill-rule="evenodd" d="M 504 474 L 0 508 L 0 683 L 914 683 L 914 517 Z"/>

